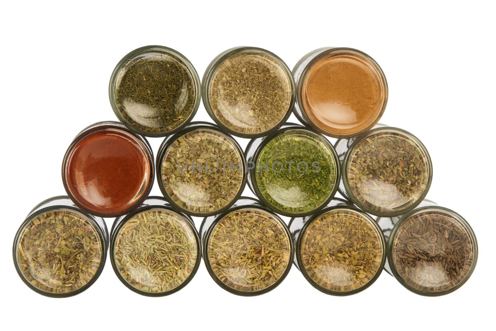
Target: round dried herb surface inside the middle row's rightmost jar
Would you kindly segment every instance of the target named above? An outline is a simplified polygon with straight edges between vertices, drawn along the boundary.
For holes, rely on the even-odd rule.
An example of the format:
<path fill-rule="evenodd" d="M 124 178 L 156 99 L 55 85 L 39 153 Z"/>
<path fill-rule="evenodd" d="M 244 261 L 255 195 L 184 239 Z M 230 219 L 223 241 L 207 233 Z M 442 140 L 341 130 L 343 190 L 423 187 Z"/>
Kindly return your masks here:
<path fill-rule="evenodd" d="M 379 131 L 350 152 L 346 177 L 353 196 L 377 212 L 400 212 L 421 199 L 429 182 L 428 154 L 410 136 Z"/>

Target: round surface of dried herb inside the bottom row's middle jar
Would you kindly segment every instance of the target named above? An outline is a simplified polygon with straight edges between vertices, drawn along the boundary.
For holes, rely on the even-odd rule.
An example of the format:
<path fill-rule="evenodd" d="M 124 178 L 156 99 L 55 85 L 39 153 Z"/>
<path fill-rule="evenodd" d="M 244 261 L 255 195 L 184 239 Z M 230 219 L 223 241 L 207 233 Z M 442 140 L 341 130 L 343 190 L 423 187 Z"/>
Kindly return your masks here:
<path fill-rule="evenodd" d="M 207 243 L 215 275 L 227 286 L 245 292 L 274 284 L 291 263 L 290 237 L 266 211 L 239 209 L 225 215 Z"/>

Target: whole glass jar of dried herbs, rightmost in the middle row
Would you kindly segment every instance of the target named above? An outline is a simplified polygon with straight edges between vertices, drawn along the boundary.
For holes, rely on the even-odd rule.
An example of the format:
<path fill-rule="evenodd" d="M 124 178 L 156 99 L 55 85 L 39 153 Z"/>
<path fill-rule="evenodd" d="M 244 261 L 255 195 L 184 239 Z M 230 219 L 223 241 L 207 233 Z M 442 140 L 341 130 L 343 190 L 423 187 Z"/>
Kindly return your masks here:
<path fill-rule="evenodd" d="M 338 139 L 334 146 L 342 169 L 339 193 L 372 215 L 401 215 L 431 187 L 431 157 L 410 132 L 377 125 L 358 137 Z"/>

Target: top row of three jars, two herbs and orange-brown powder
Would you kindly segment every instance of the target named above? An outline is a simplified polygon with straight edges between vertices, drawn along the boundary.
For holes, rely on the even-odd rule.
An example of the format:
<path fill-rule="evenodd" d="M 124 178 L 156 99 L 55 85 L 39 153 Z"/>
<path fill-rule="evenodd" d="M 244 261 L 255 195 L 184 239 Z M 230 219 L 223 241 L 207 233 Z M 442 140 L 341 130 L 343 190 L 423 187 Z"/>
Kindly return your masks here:
<path fill-rule="evenodd" d="M 185 56 L 167 47 L 146 46 L 119 62 L 109 84 L 110 102 L 120 121 L 151 137 L 183 129 L 202 97 L 212 120 L 236 136 L 265 136 L 293 111 L 317 132 L 349 138 L 377 124 L 387 94 L 384 73 L 370 56 L 331 47 L 304 56 L 293 73 L 267 50 L 232 48 L 210 63 L 200 85 Z"/>

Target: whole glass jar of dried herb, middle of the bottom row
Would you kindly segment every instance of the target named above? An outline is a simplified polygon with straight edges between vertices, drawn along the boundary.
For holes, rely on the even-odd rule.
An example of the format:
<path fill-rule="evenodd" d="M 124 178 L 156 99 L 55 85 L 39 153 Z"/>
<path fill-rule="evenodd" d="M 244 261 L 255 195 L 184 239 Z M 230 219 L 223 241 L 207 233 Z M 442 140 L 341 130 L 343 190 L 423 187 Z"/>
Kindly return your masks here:
<path fill-rule="evenodd" d="M 258 200 L 242 197 L 200 227 L 208 273 L 225 290 L 244 296 L 278 286 L 291 268 L 294 251 L 284 221 Z"/>

